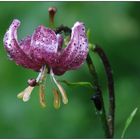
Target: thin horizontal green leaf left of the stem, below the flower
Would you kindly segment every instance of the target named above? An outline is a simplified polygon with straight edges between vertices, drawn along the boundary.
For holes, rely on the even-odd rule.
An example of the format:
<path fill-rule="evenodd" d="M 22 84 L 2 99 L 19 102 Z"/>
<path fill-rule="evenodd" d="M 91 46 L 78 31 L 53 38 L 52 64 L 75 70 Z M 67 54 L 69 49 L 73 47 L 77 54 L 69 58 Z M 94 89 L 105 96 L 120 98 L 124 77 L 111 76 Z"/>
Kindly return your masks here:
<path fill-rule="evenodd" d="M 86 87 L 94 88 L 90 82 L 74 82 L 74 83 L 72 83 L 72 82 L 68 82 L 66 80 L 59 80 L 59 82 L 65 83 L 66 85 L 73 86 L 73 87 L 86 86 Z"/>

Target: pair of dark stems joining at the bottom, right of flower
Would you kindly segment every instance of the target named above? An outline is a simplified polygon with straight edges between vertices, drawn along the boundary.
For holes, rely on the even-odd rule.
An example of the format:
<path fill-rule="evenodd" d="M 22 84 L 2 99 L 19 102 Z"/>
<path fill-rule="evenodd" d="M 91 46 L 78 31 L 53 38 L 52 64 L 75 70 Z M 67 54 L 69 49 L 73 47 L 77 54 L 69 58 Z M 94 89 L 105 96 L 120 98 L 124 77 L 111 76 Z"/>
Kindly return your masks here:
<path fill-rule="evenodd" d="M 88 54 L 87 64 L 88 64 L 90 73 L 93 75 L 93 84 L 96 87 L 95 88 L 96 95 L 100 95 L 101 97 L 102 111 L 103 111 L 103 113 L 101 114 L 102 115 L 101 118 L 102 118 L 102 123 L 104 126 L 105 136 L 107 138 L 113 138 L 114 122 L 115 122 L 114 121 L 115 120 L 115 93 L 114 93 L 114 79 L 113 79 L 112 69 L 111 69 L 109 60 L 101 47 L 99 47 L 98 45 L 95 45 L 95 46 L 92 45 L 90 47 L 90 50 L 92 50 L 92 52 L 96 52 L 99 55 L 105 68 L 107 81 L 108 81 L 108 90 L 109 90 L 109 114 L 107 117 L 106 117 L 106 111 L 105 111 L 104 102 L 103 102 L 103 95 L 102 95 L 101 88 L 98 83 L 98 77 L 95 70 L 95 66 L 93 65 L 92 59 L 90 58 L 90 55 Z"/>

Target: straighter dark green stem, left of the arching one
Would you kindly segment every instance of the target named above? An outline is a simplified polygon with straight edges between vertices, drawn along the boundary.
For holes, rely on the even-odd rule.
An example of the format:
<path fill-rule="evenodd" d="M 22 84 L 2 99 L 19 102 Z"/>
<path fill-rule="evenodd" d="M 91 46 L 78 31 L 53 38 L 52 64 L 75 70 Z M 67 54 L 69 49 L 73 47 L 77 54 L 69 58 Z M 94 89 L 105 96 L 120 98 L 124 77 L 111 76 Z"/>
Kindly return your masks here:
<path fill-rule="evenodd" d="M 106 117 L 106 112 L 105 112 L 105 107 L 104 107 L 104 101 L 103 101 L 103 96 L 102 96 L 102 91 L 98 82 L 98 76 L 95 70 L 95 66 L 92 62 L 92 59 L 90 57 L 90 55 L 88 54 L 87 56 L 87 65 L 89 68 L 89 71 L 93 77 L 93 86 L 95 87 L 95 92 L 96 94 L 100 95 L 101 97 L 101 103 L 102 103 L 102 113 L 100 113 L 101 115 L 101 121 L 103 124 L 103 129 L 104 129 L 104 133 L 105 133 L 105 137 L 106 138 L 111 138 L 110 136 L 110 131 L 109 131 L 109 126 L 108 126 L 108 122 L 107 122 L 107 117 Z"/>

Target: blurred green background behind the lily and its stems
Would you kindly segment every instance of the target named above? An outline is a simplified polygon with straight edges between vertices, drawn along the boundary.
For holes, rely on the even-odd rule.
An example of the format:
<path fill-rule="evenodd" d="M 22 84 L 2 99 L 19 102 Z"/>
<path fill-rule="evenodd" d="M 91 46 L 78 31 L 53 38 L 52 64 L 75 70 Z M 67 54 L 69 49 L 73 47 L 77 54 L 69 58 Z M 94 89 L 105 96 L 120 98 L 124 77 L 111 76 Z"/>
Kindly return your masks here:
<path fill-rule="evenodd" d="M 52 83 L 47 80 L 47 108 L 42 109 L 36 88 L 29 102 L 16 95 L 37 73 L 9 61 L 3 48 L 3 36 L 12 20 L 21 21 L 19 39 L 32 34 L 40 25 L 48 26 L 49 6 L 58 9 L 55 19 L 72 27 L 83 21 L 91 30 L 90 42 L 98 43 L 110 59 L 116 93 L 115 138 L 120 138 L 126 118 L 135 107 L 140 109 L 140 3 L 139 2 L 0 2 L 0 138 L 104 138 L 99 116 L 90 98 L 94 91 L 67 87 L 69 103 L 53 108 Z M 108 94 L 103 66 L 93 55 L 106 107 Z M 49 77 L 49 76 L 48 76 Z M 92 81 L 84 64 L 59 79 L 71 82 Z M 140 111 L 125 138 L 140 138 Z"/>

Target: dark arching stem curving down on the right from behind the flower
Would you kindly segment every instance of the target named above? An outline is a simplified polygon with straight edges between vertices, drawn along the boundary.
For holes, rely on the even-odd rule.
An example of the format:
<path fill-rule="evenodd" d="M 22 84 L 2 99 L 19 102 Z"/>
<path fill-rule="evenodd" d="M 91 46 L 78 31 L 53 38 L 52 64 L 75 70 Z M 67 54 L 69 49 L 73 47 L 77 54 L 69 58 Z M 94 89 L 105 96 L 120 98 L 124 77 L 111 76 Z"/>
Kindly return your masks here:
<path fill-rule="evenodd" d="M 115 94 L 114 94 L 114 79 L 113 79 L 112 69 L 111 69 L 109 60 L 101 47 L 96 45 L 96 47 L 93 48 L 92 50 L 96 52 L 101 58 L 104 68 L 105 68 L 107 80 L 108 80 L 109 104 L 110 104 L 109 115 L 108 115 L 108 125 L 109 125 L 110 135 L 111 137 L 113 137 L 114 117 L 115 117 Z"/>

